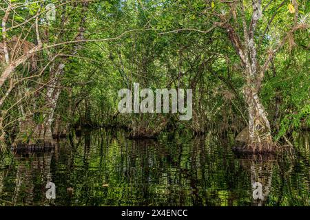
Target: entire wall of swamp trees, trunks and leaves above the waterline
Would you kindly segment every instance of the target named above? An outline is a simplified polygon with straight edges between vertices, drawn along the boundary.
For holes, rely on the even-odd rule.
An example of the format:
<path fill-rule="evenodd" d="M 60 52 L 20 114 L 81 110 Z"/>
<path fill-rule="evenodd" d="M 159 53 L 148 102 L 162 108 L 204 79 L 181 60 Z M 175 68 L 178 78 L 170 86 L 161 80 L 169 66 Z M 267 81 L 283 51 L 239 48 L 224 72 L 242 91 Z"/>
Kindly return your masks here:
<path fill-rule="evenodd" d="M 309 1 L 5 0 L 0 18 L 1 146 L 85 126 L 246 127 L 251 151 L 271 151 L 309 129 Z M 118 113 L 134 83 L 193 89 L 192 120 Z"/>

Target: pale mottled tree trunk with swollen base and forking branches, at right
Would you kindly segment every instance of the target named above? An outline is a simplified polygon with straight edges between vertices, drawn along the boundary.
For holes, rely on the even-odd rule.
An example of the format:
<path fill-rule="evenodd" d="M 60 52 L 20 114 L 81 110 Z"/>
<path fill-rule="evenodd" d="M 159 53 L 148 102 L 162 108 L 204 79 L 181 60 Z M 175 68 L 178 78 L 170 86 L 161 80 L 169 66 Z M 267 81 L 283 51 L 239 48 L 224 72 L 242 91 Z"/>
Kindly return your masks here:
<path fill-rule="evenodd" d="M 225 16 L 218 15 L 222 21 L 222 23 L 219 23 L 218 25 L 227 30 L 229 40 L 240 57 L 242 67 L 245 69 L 245 79 L 247 82 L 245 87 L 245 100 L 249 110 L 249 126 L 246 128 L 247 131 L 244 129 L 236 137 L 237 141 L 245 142 L 247 147 L 239 148 L 237 146 L 236 150 L 265 153 L 274 151 L 276 145 L 273 144 L 267 113 L 260 102 L 258 91 L 261 87 L 269 62 L 273 58 L 274 53 L 282 47 L 283 43 L 281 43 L 276 50 L 273 50 L 273 53 L 269 54 L 265 64 L 260 66 L 260 62 L 258 62 L 257 58 L 254 35 L 256 33 L 256 24 L 261 17 L 261 1 L 258 0 L 253 2 L 252 7 L 253 14 L 248 27 L 244 16 L 245 7 L 241 2 L 241 20 L 244 43 L 242 43 L 240 36 L 238 35 L 238 32 L 234 30 L 234 27 L 227 22 Z"/>

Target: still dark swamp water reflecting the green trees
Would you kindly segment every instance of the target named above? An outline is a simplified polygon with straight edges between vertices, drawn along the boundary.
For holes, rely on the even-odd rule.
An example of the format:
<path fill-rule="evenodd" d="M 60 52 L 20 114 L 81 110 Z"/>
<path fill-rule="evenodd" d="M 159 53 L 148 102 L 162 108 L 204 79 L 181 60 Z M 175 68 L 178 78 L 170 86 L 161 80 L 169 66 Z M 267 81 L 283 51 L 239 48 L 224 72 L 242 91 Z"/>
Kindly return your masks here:
<path fill-rule="evenodd" d="M 296 140 L 298 153 L 241 157 L 211 134 L 134 141 L 87 132 L 50 153 L 0 155 L 0 205 L 309 206 L 309 137 Z M 48 182 L 56 199 L 45 196 Z"/>

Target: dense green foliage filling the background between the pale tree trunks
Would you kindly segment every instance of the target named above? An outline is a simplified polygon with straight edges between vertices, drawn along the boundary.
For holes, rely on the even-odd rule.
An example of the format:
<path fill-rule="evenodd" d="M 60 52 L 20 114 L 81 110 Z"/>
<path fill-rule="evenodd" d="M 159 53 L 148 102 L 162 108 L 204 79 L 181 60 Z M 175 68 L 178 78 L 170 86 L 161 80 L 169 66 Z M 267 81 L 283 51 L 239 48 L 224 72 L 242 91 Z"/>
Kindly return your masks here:
<path fill-rule="evenodd" d="M 81 122 L 87 111 L 96 125 L 129 126 L 143 120 L 148 121 L 149 128 L 153 129 L 155 116 L 116 114 L 118 89 L 132 88 L 133 83 L 140 83 L 143 88 L 194 90 L 193 120 L 177 122 L 174 115 L 166 114 L 172 130 L 186 128 L 199 133 L 218 129 L 238 133 L 247 125 L 247 106 L 242 91 L 244 68 L 227 37 L 227 30 L 218 26 L 214 28 L 219 22 L 215 14 L 222 14 L 244 42 L 240 3 L 110 0 L 94 1 L 85 9 L 81 2 L 62 2 L 56 9 L 56 21 L 52 23 L 45 21 L 44 5 L 48 3 L 59 4 L 58 1 L 46 1 L 43 5 L 29 1 L 26 7 L 17 8 L 17 13 L 10 14 L 8 19 L 8 28 L 12 23 L 21 25 L 30 19 L 31 22 L 10 30 L 8 38 L 21 34 L 36 44 L 34 19 L 31 18 L 41 7 L 39 30 L 43 46 L 48 49 L 38 54 L 38 69 L 17 68 L 15 80 L 41 75 L 22 80 L 1 106 L 10 109 L 4 119 L 10 124 L 6 129 L 18 129 L 19 119 L 25 118 L 21 115 L 21 107 L 30 111 L 37 123 L 44 122 L 48 109 L 45 105 L 47 88 L 41 86 L 52 78 L 50 67 L 56 69 L 64 59 L 65 72 L 57 85 L 61 87 L 61 94 L 54 118 L 58 115 L 68 124 Z M 243 4 L 245 23 L 249 25 L 252 2 L 243 1 Z M 262 8 L 266 8 L 258 21 L 254 38 L 259 65 L 295 25 L 295 14 L 289 11 L 288 4 L 285 2 L 279 7 L 278 1 L 262 3 Z M 309 3 L 298 1 L 298 4 L 298 22 L 309 23 Z M 1 6 L 6 8 L 7 3 L 1 3 Z M 2 11 L 0 16 L 3 16 Z M 81 34 L 81 23 L 85 39 L 98 41 L 64 43 Z M 30 31 L 25 34 L 25 30 Z M 113 40 L 109 40 L 111 38 Z M 0 39 L 3 40 L 2 36 Z M 60 45 L 52 46 L 58 43 Z M 294 130 L 309 128 L 307 45 L 307 30 L 293 33 L 265 74 L 260 98 L 277 139 Z M 54 60 L 53 56 L 56 56 Z M 41 89 L 37 91 L 38 88 Z M 6 94 L 6 89 L 8 83 L 1 88 L 1 96 Z M 20 100 L 19 104 L 16 104 L 17 100 Z"/>

